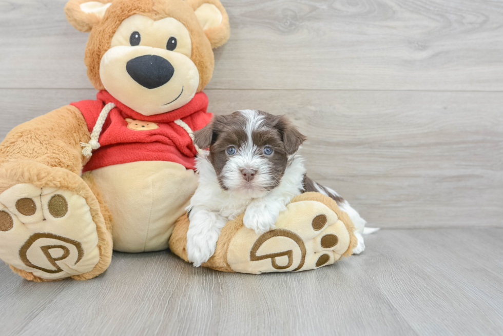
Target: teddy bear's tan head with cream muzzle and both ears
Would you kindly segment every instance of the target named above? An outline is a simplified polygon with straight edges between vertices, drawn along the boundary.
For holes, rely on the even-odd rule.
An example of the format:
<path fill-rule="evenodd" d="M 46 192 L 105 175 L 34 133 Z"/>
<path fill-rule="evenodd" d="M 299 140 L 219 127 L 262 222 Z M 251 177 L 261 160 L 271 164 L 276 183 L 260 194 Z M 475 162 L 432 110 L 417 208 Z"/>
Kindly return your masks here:
<path fill-rule="evenodd" d="M 229 38 L 218 0 L 71 0 L 65 12 L 90 31 L 85 63 L 94 87 L 144 115 L 187 104 L 211 79 L 212 49 Z"/>

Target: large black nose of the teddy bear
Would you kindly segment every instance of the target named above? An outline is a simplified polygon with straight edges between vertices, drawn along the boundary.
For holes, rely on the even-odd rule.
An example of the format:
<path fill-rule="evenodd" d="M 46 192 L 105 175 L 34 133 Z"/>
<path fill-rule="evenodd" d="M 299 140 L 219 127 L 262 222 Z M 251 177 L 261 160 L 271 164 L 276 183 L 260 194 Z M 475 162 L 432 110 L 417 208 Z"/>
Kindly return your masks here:
<path fill-rule="evenodd" d="M 141 86 L 155 89 L 169 82 L 175 73 L 175 68 L 166 58 L 143 55 L 128 61 L 126 71 Z"/>

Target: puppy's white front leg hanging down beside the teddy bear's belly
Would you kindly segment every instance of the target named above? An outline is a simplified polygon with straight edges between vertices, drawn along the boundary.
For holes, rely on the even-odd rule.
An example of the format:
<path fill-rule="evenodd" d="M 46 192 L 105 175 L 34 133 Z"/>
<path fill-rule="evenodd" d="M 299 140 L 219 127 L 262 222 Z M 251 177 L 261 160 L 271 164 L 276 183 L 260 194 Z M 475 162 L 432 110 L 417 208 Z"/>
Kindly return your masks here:
<path fill-rule="evenodd" d="M 187 258 L 195 267 L 199 267 L 215 253 L 218 236 L 227 220 L 204 207 L 194 207 L 190 211 L 189 221 Z"/>

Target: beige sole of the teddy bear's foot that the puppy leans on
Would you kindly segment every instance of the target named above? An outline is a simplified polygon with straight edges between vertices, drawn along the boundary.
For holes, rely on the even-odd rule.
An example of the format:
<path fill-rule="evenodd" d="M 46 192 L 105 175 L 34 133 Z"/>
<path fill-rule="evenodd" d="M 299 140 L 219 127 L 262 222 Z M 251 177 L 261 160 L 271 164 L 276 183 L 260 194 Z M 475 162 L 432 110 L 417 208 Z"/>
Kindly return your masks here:
<path fill-rule="evenodd" d="M 337 214 L 320 202 L 291 203 L 276 229 L 258 236 L 241 228 L 231 240 L 227 263 L 236 272 L 303 271 L 333 264 L 350 245 Z"/>

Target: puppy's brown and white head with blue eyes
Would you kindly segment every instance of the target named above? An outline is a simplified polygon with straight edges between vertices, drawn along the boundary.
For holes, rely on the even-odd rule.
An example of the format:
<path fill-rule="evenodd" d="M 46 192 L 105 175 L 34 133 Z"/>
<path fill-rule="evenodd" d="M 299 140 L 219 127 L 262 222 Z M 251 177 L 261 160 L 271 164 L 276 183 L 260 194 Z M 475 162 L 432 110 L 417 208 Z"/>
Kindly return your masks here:
<path fill-rule="evenodd" d="M 242 110 L 217 115 L 194 134 L 225 190 L 260 197 L 276 188 L 305 136 L 284 115 Z"/>

